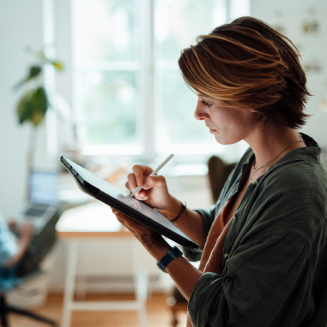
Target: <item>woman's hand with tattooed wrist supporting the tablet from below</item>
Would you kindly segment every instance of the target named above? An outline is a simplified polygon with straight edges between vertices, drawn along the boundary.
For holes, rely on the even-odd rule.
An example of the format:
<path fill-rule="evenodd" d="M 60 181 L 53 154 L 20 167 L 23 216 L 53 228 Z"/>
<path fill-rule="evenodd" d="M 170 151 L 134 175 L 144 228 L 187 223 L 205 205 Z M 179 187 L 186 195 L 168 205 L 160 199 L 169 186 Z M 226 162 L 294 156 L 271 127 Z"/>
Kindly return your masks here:
<path fill-rule="evenodd" d="M 133 235 L 142 243 L 142 245 L 150 252 L 150 254 L 155 247 L 161 246 L 166 243 L 166 241 L 159 233 L 138 223 L 132 218 L 129 218 L 117 209 L 111 209 L 113 214 L 117 217 L 118 221 L 131 233 L 133 233 Z"/>

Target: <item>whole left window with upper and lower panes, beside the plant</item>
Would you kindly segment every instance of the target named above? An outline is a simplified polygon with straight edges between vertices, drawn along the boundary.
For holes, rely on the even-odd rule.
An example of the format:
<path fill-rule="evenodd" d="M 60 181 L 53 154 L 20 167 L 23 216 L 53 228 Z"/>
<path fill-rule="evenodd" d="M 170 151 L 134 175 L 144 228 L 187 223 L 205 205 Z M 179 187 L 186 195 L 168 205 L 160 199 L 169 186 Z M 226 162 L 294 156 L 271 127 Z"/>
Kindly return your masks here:
<path fill-rule="evenodd" d="M 141 153 L 137 122 L 141 118 L 142 75 L 139 3 L 80 0 L 74 8 L 79 138 L 100 149 L 114 146 L 116 153 L 135 153 L 135 149 Z"/>

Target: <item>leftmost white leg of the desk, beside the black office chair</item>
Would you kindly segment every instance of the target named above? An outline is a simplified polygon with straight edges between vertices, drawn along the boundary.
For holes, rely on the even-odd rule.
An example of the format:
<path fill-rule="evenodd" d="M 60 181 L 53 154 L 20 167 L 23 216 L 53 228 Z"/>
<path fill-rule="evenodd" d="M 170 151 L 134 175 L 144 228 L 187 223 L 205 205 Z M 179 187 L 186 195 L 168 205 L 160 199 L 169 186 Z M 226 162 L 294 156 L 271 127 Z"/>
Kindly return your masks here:
<path fill-rule="evenodd" d="M 67 270 L 66 270 L 66 281 L 64 290 L 64 303 L 62 310 L 61 327 L 69 327 L 72 302 L 74 300 L 74 288 L 75 288 L 75 277 L 76 277 L 76 266 L 78 256 L 78 241 L 68 241 L 68 256 L 67 256 Z"/>

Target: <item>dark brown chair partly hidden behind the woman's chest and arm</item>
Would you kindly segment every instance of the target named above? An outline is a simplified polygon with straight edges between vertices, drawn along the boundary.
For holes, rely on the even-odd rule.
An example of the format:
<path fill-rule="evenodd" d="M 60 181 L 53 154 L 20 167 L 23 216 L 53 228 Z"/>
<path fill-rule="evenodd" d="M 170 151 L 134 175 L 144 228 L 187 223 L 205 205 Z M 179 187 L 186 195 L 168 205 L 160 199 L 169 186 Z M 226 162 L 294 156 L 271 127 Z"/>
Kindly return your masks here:
<path fill-rule="evenodd" d="M 217 202 L 222 188 L 232 170 L 235 163 L 227 164 L 218 156 L 211 156 L 208 160 L 208 178 L 210 183 L 211 194 L 213 202 Z M 196 266 L 196 263 L 191 262 Z M 175 286 L 172 294 L 166 301 L 172 313 L 171 325 L 173 327 L 178 325 L 177 312 L 187 312 L 187 301 Z"/>

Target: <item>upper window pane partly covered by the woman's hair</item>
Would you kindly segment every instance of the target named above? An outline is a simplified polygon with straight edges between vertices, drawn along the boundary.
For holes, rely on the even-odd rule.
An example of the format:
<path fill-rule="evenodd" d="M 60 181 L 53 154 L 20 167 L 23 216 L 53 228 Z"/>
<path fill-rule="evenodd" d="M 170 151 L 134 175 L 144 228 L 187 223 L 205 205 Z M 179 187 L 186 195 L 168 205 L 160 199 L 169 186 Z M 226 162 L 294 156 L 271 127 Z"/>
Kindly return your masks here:
<path fill-rule="evenodd" d="M 200 34 L 225 23 L 223 0 L 156 0 L 157 59 L 177 60 Z"/>

